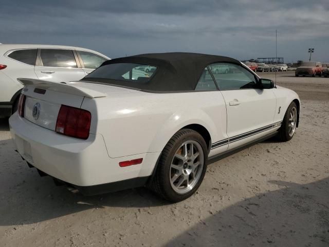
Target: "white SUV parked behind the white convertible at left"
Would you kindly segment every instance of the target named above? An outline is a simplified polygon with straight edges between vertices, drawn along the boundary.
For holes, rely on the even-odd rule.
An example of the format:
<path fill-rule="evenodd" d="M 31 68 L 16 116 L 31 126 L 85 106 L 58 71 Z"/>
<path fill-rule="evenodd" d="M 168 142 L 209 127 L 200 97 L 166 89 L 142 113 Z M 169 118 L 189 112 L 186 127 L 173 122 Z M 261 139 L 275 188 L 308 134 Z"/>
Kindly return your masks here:
<path fill-rule="evenodd" d="M 23 88 L 17 78 L 77 81 L 106 60 L 97 51 L 78 47 L 0 44 L 0 117 L 17 110 Z"/>

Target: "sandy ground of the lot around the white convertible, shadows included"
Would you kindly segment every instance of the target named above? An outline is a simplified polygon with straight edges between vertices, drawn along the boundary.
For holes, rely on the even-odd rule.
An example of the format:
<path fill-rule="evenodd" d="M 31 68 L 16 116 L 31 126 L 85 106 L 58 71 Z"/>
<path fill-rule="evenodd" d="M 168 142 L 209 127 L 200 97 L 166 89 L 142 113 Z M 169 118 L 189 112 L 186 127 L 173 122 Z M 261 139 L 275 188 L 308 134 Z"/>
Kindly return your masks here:
<path fill-rule="evenodd" d="M 83 197 L 56 187 L 13 151 L 0 119 L 0 246 L 329 246 L 329 78 L 277 81 L 302 100 L 293 140 L 209 165 L 177 204 L 145 188 Z"/>

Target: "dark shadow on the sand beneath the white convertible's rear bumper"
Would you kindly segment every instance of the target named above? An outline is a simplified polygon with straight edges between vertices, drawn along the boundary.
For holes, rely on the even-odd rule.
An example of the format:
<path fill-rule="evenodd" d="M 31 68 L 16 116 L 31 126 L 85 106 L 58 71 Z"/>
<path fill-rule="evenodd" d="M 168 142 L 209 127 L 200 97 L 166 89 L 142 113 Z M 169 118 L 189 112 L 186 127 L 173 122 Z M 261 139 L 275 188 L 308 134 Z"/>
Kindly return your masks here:
<path fill-rule="evenodd" d="M 272 137 L 265 142 L 279 142 Z M 10 139 L 0 147 L 0 225 L 38 223 L 79 211 L 102 207 L 157 207 L 170 204 L 147 188 L 135 188 L 99 196 L 74 194 L 56 186 L 51 177 L 40 177 L 14 151 Z"/>

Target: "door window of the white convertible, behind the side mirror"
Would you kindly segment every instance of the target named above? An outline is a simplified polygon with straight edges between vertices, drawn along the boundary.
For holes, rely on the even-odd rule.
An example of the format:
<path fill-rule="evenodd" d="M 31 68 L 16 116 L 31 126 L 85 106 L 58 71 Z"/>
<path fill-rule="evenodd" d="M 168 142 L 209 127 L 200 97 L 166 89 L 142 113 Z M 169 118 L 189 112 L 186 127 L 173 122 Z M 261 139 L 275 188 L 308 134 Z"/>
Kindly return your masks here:
<path fill-rule="evenodd" d="M 210 68 L 220 90 L 257 88 L 257 80 L 254 75 L 240 65 L 215 63 L 211 64 Z"/>

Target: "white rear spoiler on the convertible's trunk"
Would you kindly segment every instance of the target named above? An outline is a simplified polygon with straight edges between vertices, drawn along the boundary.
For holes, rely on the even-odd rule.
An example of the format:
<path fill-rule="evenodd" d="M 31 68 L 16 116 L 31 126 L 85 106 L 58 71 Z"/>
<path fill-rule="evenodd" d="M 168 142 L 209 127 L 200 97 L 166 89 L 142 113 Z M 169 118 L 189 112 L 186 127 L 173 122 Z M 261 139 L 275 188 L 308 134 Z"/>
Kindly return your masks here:
<path fill-rule="evenodd" d="M 23 85 L 29 85 L 38 87 L 39 89 L 51 90 L 62 92 L 66 94 L 78 95 L 87 98 L 99 98 L 99 97 L 106 97 L 106 94 L 101 92 L 87 89 L 86 87 L 75 85 L 75 83 L 58 83 L 58 82 L 51 82 L 51 81 L 43 81 L 38 79 L 29 79 L 29 78 L 17 78 Z"/>

